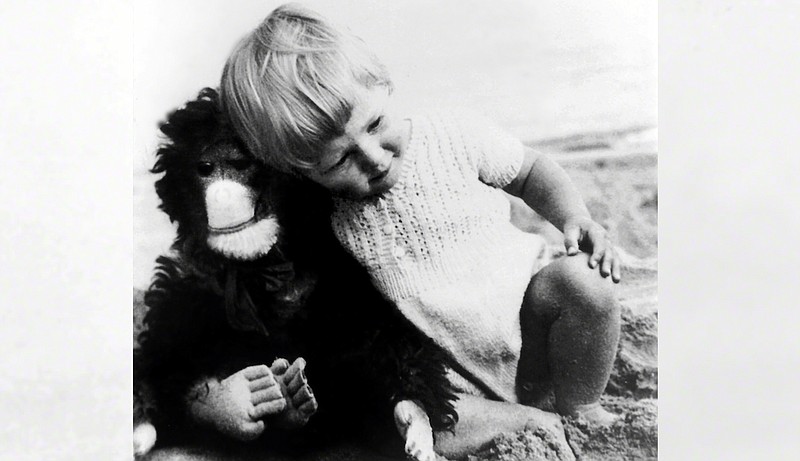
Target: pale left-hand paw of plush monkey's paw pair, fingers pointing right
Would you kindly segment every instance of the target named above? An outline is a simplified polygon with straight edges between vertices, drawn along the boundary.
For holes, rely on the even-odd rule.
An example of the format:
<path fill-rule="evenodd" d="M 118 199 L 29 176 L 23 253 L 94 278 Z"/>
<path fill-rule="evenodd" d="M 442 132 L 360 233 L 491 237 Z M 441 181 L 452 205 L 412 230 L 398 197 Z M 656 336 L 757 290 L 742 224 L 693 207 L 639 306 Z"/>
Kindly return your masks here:
<path fill-rule="evenodd" d="M 266 365 L 247 367 L 222 381 L 200 383 L 194 391 L 191 414 L 239 440 L 260 436 L 265 427 L 262 419 L 286 408 L 281 387 Z"/>

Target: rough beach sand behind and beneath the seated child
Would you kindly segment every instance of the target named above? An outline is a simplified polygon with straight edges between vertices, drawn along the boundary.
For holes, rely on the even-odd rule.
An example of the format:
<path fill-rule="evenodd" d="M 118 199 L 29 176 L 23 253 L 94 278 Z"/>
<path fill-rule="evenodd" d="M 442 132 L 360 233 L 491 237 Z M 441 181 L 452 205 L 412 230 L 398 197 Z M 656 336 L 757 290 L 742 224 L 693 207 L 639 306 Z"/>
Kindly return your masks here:
<path fill-rule="evenodd" d="M 557 449 L 547 434 L 522 431 L 506 434 L 470 461 L 623 460 L 656 459 L 658 455 L 658 187 L 655 129 L 591 133 L 531 143 L 551 153 L 564 166 L 583 194 L 592 216 L 611 233 L 624 263 L 618 296 L 623 305 L 622 336 L 605 406 L 621 415 L 611 427 L 593 429 L 582 421 L 564 420 L 571 451 Z M 533 231 L 543 233 L 554 249 L 561 235 L 536 220 Z M 134 318 L 141 316 L 141 292 L 134 290 Z M 138 321 L 135 322 L 138 325 Z M 220 453 L 156 452 L 151 459 L 220 459 Z M 227 459 L 255 459 L 238 453 Z M 312 459 L 312 458 L 309 458 Z M 381 459 L 360 447 L 343 446 L 313 459 Z"/>

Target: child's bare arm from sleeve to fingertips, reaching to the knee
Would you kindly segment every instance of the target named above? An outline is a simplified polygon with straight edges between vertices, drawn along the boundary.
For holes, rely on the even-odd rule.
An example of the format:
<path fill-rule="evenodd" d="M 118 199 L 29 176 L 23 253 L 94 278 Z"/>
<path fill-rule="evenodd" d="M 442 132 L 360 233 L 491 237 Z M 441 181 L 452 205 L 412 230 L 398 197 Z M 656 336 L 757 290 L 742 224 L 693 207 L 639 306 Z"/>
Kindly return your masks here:
<path fill-rule="evenodd" d="M 589 215 L 578 189 L 567 173 L 548 156 L 525 148 L 522 168 L 505 187 L 564 233 L 568 255 L 580 247 L 591 253 L 589 265 L 600 266 L 600 273 L 620 281 L 619 258 L 606 230 Z"/>

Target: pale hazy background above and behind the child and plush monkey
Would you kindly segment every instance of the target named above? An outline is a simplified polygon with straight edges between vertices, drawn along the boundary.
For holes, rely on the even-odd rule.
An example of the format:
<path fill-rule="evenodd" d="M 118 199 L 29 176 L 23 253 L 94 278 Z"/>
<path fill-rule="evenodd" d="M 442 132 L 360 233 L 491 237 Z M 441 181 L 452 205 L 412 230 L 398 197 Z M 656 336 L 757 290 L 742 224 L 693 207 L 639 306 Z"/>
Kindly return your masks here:
<path fill-rule="evenodd" d="M 234 44 L 281 3 L 136 2 L 134 287 L 147 286 L 155 258 L 167 251 L 174 232 L 156 209 L 156 178 L 148 172 L 161 141 L 158 122 L 201 88 L 217 86 Z M 480 111 L 524 142 L 565 158 L 598 150 L 655 155 L 654 0 L 303 4 L 375 50 L 404 109 Z M 649 171 L 654 183 L 655 170 Z"/>

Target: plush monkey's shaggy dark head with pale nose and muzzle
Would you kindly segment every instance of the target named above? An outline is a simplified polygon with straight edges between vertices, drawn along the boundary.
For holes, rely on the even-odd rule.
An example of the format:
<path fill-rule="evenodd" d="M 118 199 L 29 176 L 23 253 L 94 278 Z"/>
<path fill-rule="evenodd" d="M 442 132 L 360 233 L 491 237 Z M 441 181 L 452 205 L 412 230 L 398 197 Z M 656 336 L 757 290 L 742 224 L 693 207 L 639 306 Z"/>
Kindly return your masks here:
<path fill-rule="evenodd" d="M 267 254 L 278 239 L 278 173 L 260 165 L 236 139 L 216 91 L 203 90 L 162 124 L 166 142 L 153 172 L 161 209 L 178 223 L 178 241 L 205 245 L 235 260 Z"/>

